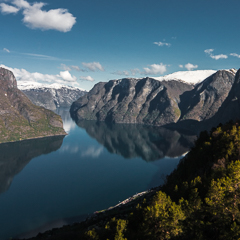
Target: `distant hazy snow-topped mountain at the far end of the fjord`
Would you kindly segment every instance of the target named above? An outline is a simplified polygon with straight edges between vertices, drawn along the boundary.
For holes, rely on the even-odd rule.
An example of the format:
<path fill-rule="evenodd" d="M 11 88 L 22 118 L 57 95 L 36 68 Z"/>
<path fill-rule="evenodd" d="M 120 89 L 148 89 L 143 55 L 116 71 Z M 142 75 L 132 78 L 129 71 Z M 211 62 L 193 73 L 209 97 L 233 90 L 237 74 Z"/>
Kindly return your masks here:
<path fill-rule="evenodd" d="M 18 88 L 32 101 L 33 104 L 50 110 L 59 107 L 69 108 L 71 104 L 86 91 L 76 87 L 60 84 L 44 85 L 36 82 L 18 81 Z"/>

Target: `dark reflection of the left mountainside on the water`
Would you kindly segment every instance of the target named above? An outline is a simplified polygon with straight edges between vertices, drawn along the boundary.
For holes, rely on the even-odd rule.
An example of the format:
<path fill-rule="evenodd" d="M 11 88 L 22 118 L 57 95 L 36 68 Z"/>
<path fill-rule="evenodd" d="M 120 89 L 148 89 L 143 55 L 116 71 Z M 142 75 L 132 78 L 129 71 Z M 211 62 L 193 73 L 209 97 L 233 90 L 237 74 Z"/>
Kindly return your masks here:
<path fill-rule="evenodd" d="M 32 158 L 58 150 L 64 136 L 24 140 L 0 144 L 0 193 L 11 185 L 16 174 L 31 161 Z"/>

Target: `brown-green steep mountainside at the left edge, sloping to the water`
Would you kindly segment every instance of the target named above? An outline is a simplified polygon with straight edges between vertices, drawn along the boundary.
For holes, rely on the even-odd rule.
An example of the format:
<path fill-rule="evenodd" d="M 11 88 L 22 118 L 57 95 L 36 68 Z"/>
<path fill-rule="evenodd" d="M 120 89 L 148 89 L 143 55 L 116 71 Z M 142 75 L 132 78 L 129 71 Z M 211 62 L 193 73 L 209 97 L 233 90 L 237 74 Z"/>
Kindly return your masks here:
<path fill-rule="evenodd" d="M 32 104 L 11 71 L 0 68 L 0 86 L 0 143 L 66 135 L 61 117 Z"/>

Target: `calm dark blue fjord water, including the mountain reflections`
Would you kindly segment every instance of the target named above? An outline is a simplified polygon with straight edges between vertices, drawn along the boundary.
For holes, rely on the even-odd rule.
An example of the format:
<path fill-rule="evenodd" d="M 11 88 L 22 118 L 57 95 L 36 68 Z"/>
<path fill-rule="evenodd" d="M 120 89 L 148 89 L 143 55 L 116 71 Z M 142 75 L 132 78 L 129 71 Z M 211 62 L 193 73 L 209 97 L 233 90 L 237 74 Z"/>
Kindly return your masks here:
<path fill-rule="evenodd" d="M 59 113 L 65 138 L 0 144 L 1 240 L 84 219 L 158 186 L 195 139 L 139 125 L 76 125 Z"/>

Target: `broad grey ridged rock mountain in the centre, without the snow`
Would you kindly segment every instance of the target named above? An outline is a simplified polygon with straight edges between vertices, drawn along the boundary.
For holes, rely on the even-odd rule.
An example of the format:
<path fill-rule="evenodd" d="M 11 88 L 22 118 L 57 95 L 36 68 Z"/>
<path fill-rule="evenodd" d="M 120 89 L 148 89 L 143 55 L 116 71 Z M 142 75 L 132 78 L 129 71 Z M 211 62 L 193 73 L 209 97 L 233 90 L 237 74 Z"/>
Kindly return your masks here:
<path fill-rule="evenodd" d="M 180 95 L 192 85 L 151 78 L 111 80 L 98 83 L 71 106 L 73 118 L 115 123 L 164 125 L 177 122 Z"/>

